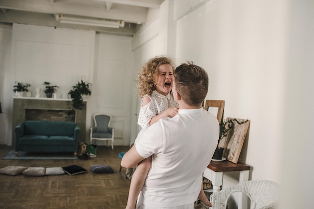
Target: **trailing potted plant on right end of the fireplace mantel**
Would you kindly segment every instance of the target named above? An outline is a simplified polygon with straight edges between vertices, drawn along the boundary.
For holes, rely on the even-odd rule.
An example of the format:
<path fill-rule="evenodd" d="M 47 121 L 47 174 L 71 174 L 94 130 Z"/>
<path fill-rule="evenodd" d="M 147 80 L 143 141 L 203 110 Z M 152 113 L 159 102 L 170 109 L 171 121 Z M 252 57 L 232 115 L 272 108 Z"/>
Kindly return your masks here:
<path fill-rule="evenodd" d="M 69 91 L 72 98 L 72 107 L 73 109 L 82 110 L 84 108 L 82 95 L 90 95 L 91 83 L 86 83 L 83 80 L 78 81 L 76 85 L 72 86 L 72 89 Z"/>

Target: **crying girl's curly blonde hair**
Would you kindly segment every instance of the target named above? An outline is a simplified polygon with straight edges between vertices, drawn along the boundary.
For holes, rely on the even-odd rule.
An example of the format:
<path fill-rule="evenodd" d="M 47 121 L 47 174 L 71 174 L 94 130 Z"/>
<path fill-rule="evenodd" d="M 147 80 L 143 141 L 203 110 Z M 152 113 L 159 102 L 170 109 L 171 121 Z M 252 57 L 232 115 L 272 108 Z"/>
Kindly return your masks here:
<path fill-rule="evenodd" d="M 156 89 L 156 75 L 159 73 L 159 67 L 164 64 L 170 64 L 175 72 L 175 65 L 169 57 L 153 57 L 141 67 L 137 76 L 137 93 L 140 97 L 145 94 L 150 96 Z"/>

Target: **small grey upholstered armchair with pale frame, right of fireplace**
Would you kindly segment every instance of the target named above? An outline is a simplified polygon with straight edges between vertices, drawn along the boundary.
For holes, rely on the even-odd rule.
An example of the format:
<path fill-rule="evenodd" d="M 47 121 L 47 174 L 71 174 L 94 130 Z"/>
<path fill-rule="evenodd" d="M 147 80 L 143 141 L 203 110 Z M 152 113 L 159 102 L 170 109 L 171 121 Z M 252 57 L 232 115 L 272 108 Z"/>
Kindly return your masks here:
<path fill-rule="evenodd" d="M 113 150 L 114 128 L 110 127 L 111 116 L 108 114 L 95 114 L 94 127 L 90 128 L 90 144 L 93 140 L 111 141 L 111 148 Z"/>

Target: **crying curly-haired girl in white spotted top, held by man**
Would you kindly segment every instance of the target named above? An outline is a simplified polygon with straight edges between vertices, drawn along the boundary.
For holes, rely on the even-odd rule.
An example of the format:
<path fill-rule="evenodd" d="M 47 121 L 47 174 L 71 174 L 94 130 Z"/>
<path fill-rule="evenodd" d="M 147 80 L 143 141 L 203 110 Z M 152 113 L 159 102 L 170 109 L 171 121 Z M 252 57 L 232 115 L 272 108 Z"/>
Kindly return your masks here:
<path fill-rule="evenodd" d="M 168 57 L 154 57 L 142 66 L 138 75 L 138 94 L 142 105 L 138 116 L 141 128 L 151 126 L 159 119 L 174 117 L 179 105 L 172 94 L 174 64 Z M 133 209 L 150 168 L 151 157 L 138 163 L 133 173 L 126 209 Z"/>

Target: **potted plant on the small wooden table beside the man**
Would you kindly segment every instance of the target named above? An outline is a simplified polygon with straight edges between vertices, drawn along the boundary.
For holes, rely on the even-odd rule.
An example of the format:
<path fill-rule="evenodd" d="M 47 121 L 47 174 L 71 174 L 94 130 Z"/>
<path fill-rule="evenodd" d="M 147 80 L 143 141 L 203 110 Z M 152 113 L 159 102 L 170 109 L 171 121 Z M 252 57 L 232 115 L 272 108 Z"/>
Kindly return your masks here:
<path fill-rule="evenodd" d="M 214 155 L 212 157 L 212 159 L 214 160 L 221 160 L 222 159 L 222 155 L 224 152 L 224 148 L 223 147 L 219 147 L 219 142 L 228 135 L 228 132 L 230 129 L 233 128 L 234 126 L 234 122 L 236 122 L 237 124 L 241 125 L 241 124 L 245 124 L 246 122 L 248 122 L 248 119 L 246 119 L 243 122 L 239 122 L 237 119 L 230 119 L 228 121 L 223 120 L 220 125 L 219 125 L 219 139 L 218 139 L 218 145 L 217 148 L 214 152 Z"/>

